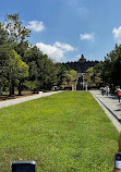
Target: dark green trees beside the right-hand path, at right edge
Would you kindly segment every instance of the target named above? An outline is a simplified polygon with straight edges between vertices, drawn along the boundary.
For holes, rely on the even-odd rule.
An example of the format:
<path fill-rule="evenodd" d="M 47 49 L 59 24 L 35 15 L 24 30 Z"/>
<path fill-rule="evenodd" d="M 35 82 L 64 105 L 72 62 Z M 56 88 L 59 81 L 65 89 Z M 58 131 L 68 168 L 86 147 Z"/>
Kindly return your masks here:
<path fill-rule="evenodd" d="M 114 90 L 117 85 L 121 86 L 121 46 L 117 46 L 114 50 L 107 53 L 105 61 L 94 67 L 94 76 L 99 76 L 104 81 L 104 85 L 109 85 Z"/>

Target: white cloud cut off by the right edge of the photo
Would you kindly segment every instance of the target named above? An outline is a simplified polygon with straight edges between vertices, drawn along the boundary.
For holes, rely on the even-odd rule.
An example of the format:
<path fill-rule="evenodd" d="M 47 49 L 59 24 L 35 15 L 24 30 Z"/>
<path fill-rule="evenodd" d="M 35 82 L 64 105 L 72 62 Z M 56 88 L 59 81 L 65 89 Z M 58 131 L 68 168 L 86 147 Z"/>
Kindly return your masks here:
<path fill-rule="evenodd" d="M 121 26 L 119 28 L 113 28 L 112 29 L 113 38 L 116 42 L 121 44 Z"/>

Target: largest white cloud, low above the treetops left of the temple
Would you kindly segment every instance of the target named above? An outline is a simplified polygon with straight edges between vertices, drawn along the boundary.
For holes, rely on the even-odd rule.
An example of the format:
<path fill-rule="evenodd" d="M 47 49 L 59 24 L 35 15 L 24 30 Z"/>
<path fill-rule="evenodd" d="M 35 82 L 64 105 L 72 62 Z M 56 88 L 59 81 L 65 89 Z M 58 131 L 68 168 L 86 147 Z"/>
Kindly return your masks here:
<path fill-rule="evenodd" d="M 74 51 L 74 48 L 66 44 L 61 44 L 56 41 L 53 46 L 45 45 L 43 42 L 37 42 L 36 46 L 46 53 L 49 58 L 53 59 L 57 62 L 61 62 L 63 60 L 64 53 L 69 51 Z"/>

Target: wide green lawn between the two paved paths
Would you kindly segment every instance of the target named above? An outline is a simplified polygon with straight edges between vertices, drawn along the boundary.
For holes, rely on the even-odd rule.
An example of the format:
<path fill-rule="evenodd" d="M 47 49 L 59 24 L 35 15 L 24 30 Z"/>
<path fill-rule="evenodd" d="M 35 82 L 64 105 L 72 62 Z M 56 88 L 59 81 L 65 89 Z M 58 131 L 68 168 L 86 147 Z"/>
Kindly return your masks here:
<path fill-rule="evenodd" d="M 88 91 L 0 109 L 0 171 L 35 160 L 37 172 L 111 172 L 119 133 Z"/>

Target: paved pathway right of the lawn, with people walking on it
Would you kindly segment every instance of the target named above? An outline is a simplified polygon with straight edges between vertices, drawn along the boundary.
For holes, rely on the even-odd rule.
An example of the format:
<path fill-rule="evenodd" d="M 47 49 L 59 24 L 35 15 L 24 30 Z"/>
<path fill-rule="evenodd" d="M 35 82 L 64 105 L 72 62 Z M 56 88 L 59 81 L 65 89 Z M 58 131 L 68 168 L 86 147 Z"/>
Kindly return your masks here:
<path fill-rule="evenodd" d="M 90 90 L 90 94 L 102 107 L 117 130 L 121 132 L 121 102 L 119 102 L 118 97 L 111 94 L 102 96 L 100 90 Z"/>

